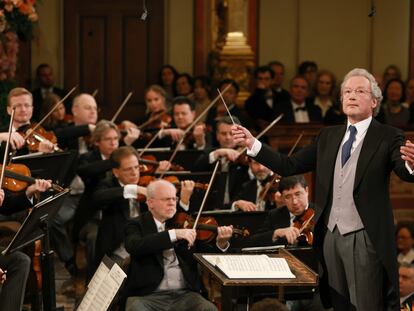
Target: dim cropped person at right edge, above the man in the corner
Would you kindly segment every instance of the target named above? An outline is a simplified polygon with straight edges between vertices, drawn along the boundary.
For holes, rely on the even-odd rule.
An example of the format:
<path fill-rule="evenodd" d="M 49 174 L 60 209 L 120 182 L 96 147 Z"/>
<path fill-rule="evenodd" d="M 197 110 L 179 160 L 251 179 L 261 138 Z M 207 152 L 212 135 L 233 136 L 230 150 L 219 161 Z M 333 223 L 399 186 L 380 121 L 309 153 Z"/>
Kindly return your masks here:
<path fill-rule="evenodd" d="M 402 222 L 396 230 L 398 263 L 414 263 L 414 224 Z"/>

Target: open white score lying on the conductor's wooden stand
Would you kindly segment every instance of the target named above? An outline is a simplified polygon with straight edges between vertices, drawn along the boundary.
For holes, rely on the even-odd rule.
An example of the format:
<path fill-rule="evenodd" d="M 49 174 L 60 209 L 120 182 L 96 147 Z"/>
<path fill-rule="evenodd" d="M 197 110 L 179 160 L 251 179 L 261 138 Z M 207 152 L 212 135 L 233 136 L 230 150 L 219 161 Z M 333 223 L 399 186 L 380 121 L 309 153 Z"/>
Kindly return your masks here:
<path fill-rule="evenodd" d="M 231 279 L 295 278 L 285 258 L 267 255 L 203 255 L 203 258 Z"/>

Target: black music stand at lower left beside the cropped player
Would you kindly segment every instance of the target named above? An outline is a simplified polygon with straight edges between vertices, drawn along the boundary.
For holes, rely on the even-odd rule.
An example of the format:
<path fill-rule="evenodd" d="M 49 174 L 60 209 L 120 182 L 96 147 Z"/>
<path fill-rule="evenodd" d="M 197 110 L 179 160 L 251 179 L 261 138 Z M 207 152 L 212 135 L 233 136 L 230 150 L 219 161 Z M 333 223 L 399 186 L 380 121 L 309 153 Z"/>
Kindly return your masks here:
<path fill-rule="evenodd" d="M 22 247 L 42 239 L 41 267 L 42 267 L 42 298 L 43 310 L 55 311 L 55 270 L 53 262 L 53 251 L 50 249 L 48 219 L 53 218 L 61 207 L 63 200 L 69 193 L 69 189 L 36 204 L 26 219 L 23 221 L 19 231 L 13 240 L 2 252 L 3 255 L 10 254 Z"/>

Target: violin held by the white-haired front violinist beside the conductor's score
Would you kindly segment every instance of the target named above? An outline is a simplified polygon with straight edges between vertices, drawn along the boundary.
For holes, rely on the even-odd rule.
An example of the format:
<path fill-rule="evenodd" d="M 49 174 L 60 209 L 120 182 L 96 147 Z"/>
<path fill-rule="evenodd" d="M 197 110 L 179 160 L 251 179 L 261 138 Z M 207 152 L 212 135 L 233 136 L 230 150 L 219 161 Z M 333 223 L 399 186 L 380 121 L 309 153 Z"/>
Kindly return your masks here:
<path fill-rule="evenodd" d="M 184 212 L 177 213 L 174 220 L 178 228 L 191 229 L 194 225 L 194 219 Z M 218 223 L 213 217 L 200 217 L 196 226 L 197 240 L 206 243 L 213 241 L 217 227 Z M 233 235 L 247 237 L 250 232 L 247 229 L 233 228 Z"/>

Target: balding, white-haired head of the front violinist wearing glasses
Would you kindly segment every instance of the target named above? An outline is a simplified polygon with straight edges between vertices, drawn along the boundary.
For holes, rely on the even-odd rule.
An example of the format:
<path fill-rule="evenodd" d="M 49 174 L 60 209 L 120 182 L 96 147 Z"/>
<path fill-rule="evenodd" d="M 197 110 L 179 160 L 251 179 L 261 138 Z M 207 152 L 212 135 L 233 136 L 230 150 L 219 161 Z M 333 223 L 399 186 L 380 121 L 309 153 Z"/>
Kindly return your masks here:
<path fill-rule="evenodd" d="M 148 209 L 160 222 L 174 217 L 177 211 L 176 190 L 172 184 L 160 183 L 151 198 L 147 199 Z"/>

